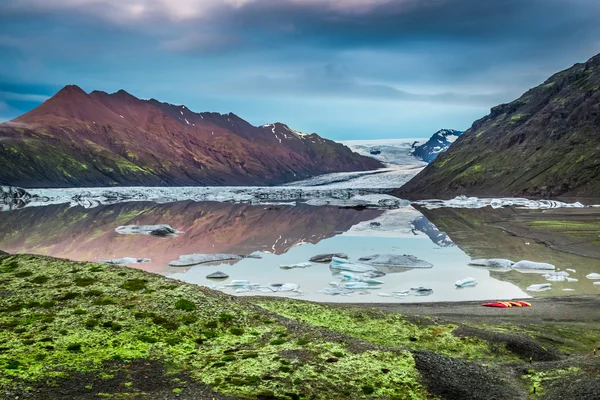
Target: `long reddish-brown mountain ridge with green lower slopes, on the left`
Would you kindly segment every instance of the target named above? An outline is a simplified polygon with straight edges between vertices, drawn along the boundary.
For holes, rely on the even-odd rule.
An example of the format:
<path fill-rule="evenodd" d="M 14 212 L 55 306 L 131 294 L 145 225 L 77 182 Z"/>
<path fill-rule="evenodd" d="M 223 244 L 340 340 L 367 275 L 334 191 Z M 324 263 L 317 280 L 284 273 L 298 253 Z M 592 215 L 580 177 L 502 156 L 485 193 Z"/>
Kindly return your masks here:
<path fill-rule="evenodd" d="M 73 85 L 0 124 L 0 165 L 0 184 L 21 187 L 272 185 L 382 167 L 281 123 Z"/>

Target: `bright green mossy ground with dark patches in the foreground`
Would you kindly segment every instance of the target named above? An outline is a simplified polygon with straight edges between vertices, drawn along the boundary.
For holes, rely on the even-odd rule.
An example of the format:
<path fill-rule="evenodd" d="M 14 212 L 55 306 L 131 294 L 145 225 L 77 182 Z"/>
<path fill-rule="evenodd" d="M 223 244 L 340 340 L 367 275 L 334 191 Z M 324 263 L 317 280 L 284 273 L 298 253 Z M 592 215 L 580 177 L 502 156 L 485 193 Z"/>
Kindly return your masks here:
<path fill-rule="evenodd" d="M 0 399 L 551 399 L 573 376 L 587 379 L 577 398 L 598 394 L 597 359 L 573 338 L 591 333 L 571 328 L 553 347 L 543 330 L 235 298 L 0 253 Z"/>

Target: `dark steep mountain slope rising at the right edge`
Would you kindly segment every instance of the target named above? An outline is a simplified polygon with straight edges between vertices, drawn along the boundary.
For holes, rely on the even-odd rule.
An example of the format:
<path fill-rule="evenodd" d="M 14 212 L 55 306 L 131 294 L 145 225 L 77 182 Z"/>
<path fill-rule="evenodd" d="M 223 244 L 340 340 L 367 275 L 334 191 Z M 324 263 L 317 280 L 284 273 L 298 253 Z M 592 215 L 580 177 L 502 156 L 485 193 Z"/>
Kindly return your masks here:
<path fill-rule="evenodd" d="M 600 197 L 600 54 L 492 108 L 395 194 Z"/>

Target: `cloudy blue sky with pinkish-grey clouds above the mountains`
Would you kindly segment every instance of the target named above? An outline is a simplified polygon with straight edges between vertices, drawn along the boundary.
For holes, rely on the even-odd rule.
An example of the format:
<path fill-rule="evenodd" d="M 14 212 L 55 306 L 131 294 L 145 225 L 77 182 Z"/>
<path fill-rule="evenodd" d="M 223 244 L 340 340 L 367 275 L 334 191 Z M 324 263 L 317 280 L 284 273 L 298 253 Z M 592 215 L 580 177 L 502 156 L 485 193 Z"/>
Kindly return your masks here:
<path fill-rule="evenodd" d="M 0 121 L 124 89 L 325 137 L 465 130 L 600 52 L 598 0 L 0 0 Z"/>

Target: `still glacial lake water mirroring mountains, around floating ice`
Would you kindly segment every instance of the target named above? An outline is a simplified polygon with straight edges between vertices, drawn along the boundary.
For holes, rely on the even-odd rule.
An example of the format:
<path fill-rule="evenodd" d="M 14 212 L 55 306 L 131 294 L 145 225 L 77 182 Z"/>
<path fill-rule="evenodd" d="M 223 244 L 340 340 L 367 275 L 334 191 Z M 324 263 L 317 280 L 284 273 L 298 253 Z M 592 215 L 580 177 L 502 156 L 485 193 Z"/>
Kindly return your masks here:
<path fill-rule="evenodd" d="M 302 202 L 234 203 L 217 201 L 150 201 L 115 204 L 49 204 L 0 213 L 0 249 L 81 261 L 122 257 L 149 258 L 130 265 L 174 279 L 236 295 L 231 280 L 262 285 L 294 283 L 300 292 L 274 293 L 327 302 L 423 302 L 600 294 L 586 275 L 600 273 L 600 209 L 433 208 L 403 204 L 397 208 L 339 207 Z M 124 235 L 122 225 L 168 224 L 171 237 Z M 565 250 L 565 251 L 563 251 Z M 586 256 L 569 253 L 585 254 Z M 328 264 L 282 269 L 321 253 L 346 253 L 350 260 L 372 254 L 410 254 L 433 264 L 430 269 L 388 272 L 379 289 L 349 295 L 321 293 L 339 276 Z M 169 267 L 185 254 L 259 254 L 261 259 Z M 542 273 L 494 271 L 469 266 L 475 258 L 528 259 L 555 264 L 577 282 L 551 282 L 549 290 L 530 292 L 532 284 L 549 283 Z M 222 271 L 224 281 L 206 278 Z M 475 287 L 455 282 L 475 278 Z M 414 287 L 428 296 L 392 296 Z"/>

